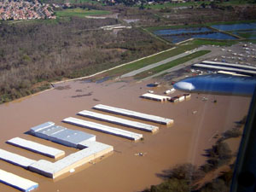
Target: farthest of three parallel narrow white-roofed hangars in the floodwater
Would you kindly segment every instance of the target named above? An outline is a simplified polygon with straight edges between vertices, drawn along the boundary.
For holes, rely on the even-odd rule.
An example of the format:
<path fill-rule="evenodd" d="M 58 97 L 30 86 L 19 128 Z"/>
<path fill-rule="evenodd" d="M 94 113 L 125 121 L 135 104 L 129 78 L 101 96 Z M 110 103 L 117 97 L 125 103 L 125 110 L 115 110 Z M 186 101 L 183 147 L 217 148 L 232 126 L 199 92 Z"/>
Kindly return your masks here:
<path fill-rule="evenodd" d="M 143 120 L 147 120 L 147 121 L 151 121 L 151 122 L 159 123 L 163 125 L 171 125 L 173 123 L 173 119 L 166 119 L 166 118 L 162 118 L 152 114 L 139 113 L 139 112 L 127 110 L 125 108 L 114 108 L 114 107 L 102 105 L 102 104 L 98 104 L 93 108 L 100 111 L 108 112 L 108 113 L 120 114 L 127 117 L 135 118 L 135 119 L 143 119 Z"/>

